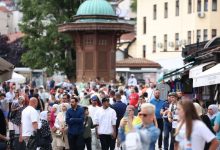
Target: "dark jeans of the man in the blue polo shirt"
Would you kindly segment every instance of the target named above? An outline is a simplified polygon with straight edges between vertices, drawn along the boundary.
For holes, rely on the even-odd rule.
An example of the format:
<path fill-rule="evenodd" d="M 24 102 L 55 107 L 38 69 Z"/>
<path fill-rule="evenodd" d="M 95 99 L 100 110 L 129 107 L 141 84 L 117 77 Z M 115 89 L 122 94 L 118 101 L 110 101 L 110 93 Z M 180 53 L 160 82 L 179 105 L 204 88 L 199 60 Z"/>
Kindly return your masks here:
<path fill-rule="evenodd" d="M 169 137 L 172 131 L 172 124 L 169 123 L 168 121 L 164 120 L 164 150 L 168 150 L 169 149 Z M 171 148 L 171 147 L 170 147 Z"/>

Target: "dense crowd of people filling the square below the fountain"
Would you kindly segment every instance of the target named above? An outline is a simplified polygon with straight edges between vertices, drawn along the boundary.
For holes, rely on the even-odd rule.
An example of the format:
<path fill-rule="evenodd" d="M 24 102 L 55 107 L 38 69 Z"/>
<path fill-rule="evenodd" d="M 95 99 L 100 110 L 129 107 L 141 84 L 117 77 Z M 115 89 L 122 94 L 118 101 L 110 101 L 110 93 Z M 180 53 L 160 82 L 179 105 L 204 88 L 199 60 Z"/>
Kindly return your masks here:
<path fill-rule="evenodd" d="M 220 149 L 218 105 L 164 94 L 134 75 L 120 86 L 2 83 L 0 122 L 0 150 Z"/>

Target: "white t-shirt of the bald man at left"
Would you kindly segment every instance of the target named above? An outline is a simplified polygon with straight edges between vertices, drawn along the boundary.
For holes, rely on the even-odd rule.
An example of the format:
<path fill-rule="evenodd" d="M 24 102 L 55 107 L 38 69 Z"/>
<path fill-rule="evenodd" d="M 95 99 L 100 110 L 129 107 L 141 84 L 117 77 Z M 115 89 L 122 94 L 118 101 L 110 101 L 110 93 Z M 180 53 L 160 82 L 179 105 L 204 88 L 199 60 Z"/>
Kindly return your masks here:
<path fill-rule="evenodd" d="M 32 106 L 27 106 L 22 111 L 21 116 L 22 136 L 31 136 L 33 134 L 33 122 L 39 122 L 39 114 Z"/>

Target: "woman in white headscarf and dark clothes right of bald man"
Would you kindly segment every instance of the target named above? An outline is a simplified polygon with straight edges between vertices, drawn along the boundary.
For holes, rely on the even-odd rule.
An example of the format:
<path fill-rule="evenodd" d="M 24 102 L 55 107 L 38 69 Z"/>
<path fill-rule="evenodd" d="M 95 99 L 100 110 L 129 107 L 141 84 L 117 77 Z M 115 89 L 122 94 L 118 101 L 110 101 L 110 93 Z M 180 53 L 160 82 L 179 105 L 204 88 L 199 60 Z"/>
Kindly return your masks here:
<path fill-rule="evenodd" d="M 48 123 L 48 111 L 42 111 L 40 113 L 40 123 L 39 123 L 39 150 L 52 150 L 51 142 L 52 136 L 50 132 L 50 127 Z"/>

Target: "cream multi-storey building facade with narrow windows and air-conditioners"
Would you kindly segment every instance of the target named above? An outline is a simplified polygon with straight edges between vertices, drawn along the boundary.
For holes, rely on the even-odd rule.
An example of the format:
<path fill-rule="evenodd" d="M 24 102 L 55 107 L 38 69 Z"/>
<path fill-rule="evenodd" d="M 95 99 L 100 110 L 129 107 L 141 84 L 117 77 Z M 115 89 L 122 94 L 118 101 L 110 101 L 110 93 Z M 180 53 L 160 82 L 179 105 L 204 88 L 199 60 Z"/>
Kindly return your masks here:
<path fill-rule="evenodd" d="M 220 35 L 217 18 L 217 0 L 138 0 L 136 57 L 154 60 L 163 69 L 181 67 L 185 45 Z"/>

